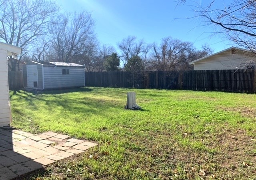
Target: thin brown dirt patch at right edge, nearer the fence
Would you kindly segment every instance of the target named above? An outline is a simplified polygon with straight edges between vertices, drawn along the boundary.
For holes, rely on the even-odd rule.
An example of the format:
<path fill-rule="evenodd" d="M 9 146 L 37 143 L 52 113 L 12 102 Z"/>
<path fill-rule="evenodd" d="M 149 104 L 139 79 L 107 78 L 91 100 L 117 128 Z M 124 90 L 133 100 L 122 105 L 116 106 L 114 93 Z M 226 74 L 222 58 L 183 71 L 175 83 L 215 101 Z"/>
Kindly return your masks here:
<path fill-rule="evenodd" d="M 256 108 L 244 106 L 244 107 L 234 107 L 234 108 L 220 107 L 220 109 L 225 111 L 239 112 L 241 116 L 244 116 L 244 117 L 249 117 L 249 118 L 256 117 Z"/>

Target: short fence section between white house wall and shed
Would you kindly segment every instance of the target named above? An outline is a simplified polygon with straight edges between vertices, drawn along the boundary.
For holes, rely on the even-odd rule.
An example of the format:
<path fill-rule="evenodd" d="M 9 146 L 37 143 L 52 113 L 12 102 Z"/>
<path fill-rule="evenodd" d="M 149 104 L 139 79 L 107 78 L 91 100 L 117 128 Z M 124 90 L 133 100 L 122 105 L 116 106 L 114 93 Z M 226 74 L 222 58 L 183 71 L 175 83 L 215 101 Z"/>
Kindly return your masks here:
<path fill-rule="evenodd" d="M 8 71 L 8 83 L 10 90 L 23 88 L 22 71 Z"/>

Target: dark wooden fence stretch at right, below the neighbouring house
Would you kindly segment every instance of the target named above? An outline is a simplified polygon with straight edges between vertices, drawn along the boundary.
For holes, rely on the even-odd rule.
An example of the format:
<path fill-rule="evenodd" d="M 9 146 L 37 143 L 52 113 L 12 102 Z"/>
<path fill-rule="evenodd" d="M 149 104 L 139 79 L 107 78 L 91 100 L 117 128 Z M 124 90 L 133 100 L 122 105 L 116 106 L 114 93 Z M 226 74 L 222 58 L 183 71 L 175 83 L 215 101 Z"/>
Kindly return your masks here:
<path fill-rule="evenodd" d="M 196 70 L 182 73 L 182 89 L 224 92 L 256 92 L 255 71 Z"/>

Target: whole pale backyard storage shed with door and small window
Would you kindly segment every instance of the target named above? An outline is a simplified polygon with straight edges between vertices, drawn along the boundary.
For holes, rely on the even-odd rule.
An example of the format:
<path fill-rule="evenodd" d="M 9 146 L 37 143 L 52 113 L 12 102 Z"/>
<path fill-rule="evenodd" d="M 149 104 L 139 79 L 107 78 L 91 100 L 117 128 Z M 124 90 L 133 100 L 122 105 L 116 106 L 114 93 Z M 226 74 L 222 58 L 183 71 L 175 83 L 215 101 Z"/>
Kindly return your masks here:
<path fill-rule="evenodd" d="M 27 88 L 54 89 L 85 86 L 84 66 L 67 62 L 32 62 L 23 66 Z"/>

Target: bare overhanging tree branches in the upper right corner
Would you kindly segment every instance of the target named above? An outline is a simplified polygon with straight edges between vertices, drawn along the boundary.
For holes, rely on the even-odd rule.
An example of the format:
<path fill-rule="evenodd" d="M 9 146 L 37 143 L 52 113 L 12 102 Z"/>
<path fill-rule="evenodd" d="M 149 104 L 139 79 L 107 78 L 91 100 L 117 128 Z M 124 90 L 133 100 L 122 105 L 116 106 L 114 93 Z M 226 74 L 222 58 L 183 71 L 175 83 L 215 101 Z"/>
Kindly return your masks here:
<path fill-rule="evenodd" d="M 178 5 L 186 0 L 178 1 Z M 194 6 L 196 17 L 201 17 L 206 26 L 216 25 L 217 33 L 246 49 L 256 50 L 256 0 L 233 0 L 223 7 L 216 7 L 214 0 L 207 6 Z"/>

